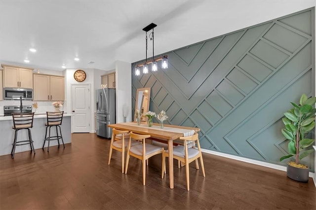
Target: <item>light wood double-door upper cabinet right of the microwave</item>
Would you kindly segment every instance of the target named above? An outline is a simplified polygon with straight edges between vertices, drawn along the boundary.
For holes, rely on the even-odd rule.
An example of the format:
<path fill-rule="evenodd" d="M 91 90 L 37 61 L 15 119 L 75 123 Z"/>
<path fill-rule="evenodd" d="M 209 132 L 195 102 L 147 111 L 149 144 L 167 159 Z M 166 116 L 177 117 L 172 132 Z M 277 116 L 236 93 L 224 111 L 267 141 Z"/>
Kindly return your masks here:
<path fill-rule="evenodd" d="M 34 101 L 64 101 L 65 85 L 63 76 L 37 74 L 33 75 Z"/>

